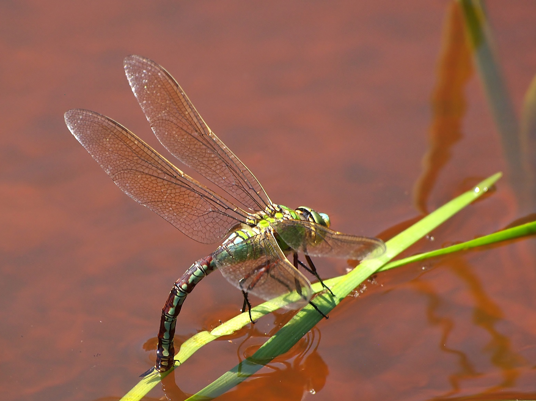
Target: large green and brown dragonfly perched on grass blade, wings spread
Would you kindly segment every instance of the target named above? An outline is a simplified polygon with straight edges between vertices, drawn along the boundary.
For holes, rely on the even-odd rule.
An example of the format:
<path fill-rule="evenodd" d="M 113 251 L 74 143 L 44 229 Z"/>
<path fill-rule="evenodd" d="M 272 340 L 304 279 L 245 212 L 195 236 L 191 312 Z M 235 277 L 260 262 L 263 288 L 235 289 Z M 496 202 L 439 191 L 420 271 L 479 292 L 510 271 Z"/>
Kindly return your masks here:
<path fill-rule="evenodd" d="M 219 188 L 215 192 L 191 178 L 113 119 L 83 109 L 65 112 L 71 133 L 125 194 L 191 239 L 221 243 L 173 284 L 160 317 L 155 366 L 147 372 L 162 373 L 175 366 L 177 316 L 188 294 L 214 270 L 242 291 L 242 312 L 247 306 L 251 322 L 248 294 L 264 300 L 287 297 L 289 309 L 311 304 L 326 317 L 311 301 L 311 284 L 298 268 L 323 284 L 311 256 L 376 258 L 385 251 L 383 241 L 333 231 L 329 216 L 309 207 L 273 203 L 251 171 L 211 131 L 172 75 L 141 56 L 126 57 L 124 69 L 158 140 Z"/>

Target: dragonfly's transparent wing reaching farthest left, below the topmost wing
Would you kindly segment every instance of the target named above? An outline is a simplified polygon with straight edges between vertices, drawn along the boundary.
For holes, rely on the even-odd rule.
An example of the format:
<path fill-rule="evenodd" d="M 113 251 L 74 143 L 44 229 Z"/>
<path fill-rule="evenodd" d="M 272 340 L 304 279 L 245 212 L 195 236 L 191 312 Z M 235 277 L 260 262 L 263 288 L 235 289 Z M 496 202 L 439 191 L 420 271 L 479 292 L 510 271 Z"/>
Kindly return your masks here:
<path fill-rule="evenodd" d="M 201 243 L 223 239 L 247 213 L 185 175 L 114 120 L 88 110 L 65 123 L 124 193 Z"/>

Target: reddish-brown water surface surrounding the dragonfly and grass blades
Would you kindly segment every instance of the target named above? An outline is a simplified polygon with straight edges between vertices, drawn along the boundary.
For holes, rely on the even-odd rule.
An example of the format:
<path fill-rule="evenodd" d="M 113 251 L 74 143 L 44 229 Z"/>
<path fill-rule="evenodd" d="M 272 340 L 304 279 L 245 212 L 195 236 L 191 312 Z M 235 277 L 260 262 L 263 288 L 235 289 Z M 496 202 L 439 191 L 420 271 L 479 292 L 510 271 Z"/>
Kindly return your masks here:
<path fill-rule="evenodd" d="M 145 349 L 173 282 L 214 249 L 125 196 L 63 122 L 70 108 L 95 110 L 162 150 L 124 77 L 126 55 L 165 66 L 274 201 L 329 213 L 339 231 L 391 236 L 506 168 L 446 0 L 81 4 L 0 4 L 3 400 L 125 394 L 153 363 Z M 536 3 L 487 4 L 520 110 L 536 72 Z M 406 254 L 534 211 L 517 205 L 503 178 Z M 378 275 L 221 398 L 534 399 L 535 241 Z M 316 263 L 324 277 L 347 267 Z M 215 273 L 185 303 L 177 336 L 212 328 L 241 304 Z M 211 343 L 147 399 L 198 391 L 289 317 Z"/>

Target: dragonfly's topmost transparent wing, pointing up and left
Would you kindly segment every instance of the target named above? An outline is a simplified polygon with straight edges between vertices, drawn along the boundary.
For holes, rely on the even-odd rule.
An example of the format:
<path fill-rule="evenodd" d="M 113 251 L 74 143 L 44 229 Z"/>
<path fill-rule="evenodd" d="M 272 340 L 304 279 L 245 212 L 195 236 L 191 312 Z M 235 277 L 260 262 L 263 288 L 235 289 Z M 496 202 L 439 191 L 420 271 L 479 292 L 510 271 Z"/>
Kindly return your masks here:
<path fill-rule="evenodd" d="M 214 135 L 173 77 L 140 56 L 124 60 L 126 77 L 158 140 L 181 162 L 233 196 L 264 210 L 271 201 L 255 176 Z"/>

